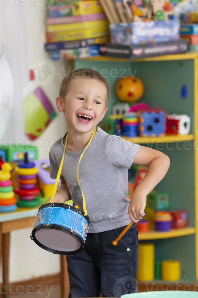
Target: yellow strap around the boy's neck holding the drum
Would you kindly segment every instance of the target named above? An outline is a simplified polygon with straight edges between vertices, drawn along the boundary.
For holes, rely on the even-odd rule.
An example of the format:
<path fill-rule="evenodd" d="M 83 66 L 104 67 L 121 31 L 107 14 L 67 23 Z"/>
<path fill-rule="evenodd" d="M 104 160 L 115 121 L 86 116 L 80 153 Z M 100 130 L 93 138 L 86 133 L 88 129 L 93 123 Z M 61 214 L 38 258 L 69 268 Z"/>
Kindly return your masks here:
<path fill-rule="evenodd" d="M 83 152 L 82 152 L 82 154 L 81 154 L 81 156 L 79 158 L 78 167 L 77 167 L 77 181 L 78 181 L 78 185 L 79 185 L 79 187 L 81 189 L 81 193 L 82 193 L 82 198 L 83 198 L 83 212 L 84 212 L 84 215 L 85 216 L 87 215 L 87 208 L 86 208 L 86 200 L 85 200 L 84 192 L 83 192 L 83 190 L 81 188 L 81 183 L 80 183 L 80 179 L 79 179 L 79 165 L 80 165 L 81 159 L 82 159 L 82 157 L 84 155 L 84 151 L 87 149 L 87 147 L 91 143 L 91 140 L 93 139 L 94 134 L 96 133 L 96 130 L 97 130 L 97 127 L 95 128 L 94 132 L 92 133 L 91 139 L 89 140 L 87 146 L 84 148 L 84 150 L 83 150 Z M 62 168 L 63 168 L 64 153 L 65 153 L 65 148 L 66 148 L 66 145 L 67 145 L 67 141 L 68 141 L 68 133 L 67 133 L 67 136 L 66 136 L 66 140 L 65 140 L 65 144 L 64 144 L 64 150 L 63 150 L 63 156 L 62 156 L 60 167 L 58 169 L 58 173 L 57 173 L 57 176 L 56 176 L 56 181 L 55 181 L 55 184 L 54 184 L 54 189 L 53 189 L 53 192 L 52 192 L 52 195 L 51 195 L 50 203 L 52 203 L 54 201 L 54 196 L 55 196 L 56 191 L 57 191 L 57 188 L 58 188 L 58 182 L 59 182 L 59 179 L 61 177 L 61 171 L 62 171 Z"/>

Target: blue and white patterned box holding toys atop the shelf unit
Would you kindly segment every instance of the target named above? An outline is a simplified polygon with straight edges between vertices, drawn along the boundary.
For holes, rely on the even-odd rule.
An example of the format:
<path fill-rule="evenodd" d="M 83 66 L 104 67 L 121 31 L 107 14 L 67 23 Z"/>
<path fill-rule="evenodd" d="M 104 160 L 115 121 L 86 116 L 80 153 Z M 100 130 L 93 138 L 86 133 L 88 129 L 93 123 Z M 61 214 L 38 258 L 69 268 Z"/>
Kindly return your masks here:
<path fill-rule="evenodd" d="M 140 45 L 178 40 L 180 37 L 178 19 L 110 24 L 111 43 Z"/>

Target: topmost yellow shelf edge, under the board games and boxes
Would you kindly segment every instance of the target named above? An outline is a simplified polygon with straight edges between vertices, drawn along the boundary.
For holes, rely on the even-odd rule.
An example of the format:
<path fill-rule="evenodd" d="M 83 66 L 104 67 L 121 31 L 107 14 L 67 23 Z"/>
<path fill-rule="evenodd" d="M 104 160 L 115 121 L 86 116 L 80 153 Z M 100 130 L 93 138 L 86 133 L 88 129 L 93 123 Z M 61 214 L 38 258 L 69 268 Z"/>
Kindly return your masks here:
<path fill-rule="evenodd" d="M 145 61 L 173 61 L 173 60 L 190 60 L 198 58 L 198 53 L 183 53 L 174 55 L 164 55 L 156 56 L 142 59 L 124 59 L 124 58 L 114 58 L 105 56 L 96 56 L 90 58 L 81 58 L 79 60 L 91 60 L 91 61 L 131 61 L 131 62 L 145 62 Z"/>

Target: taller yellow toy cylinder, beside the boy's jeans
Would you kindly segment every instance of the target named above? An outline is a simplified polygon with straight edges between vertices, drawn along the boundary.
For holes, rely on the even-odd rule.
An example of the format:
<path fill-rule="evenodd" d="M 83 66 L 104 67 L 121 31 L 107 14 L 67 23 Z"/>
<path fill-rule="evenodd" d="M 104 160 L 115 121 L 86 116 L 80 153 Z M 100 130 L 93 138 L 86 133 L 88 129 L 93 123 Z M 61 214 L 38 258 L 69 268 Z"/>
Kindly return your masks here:
<path fill-rule="evenodd" d="M 154 244 L 139 244 L 137 280 L 144 282 L 154 279 L 154 254 Z"/>

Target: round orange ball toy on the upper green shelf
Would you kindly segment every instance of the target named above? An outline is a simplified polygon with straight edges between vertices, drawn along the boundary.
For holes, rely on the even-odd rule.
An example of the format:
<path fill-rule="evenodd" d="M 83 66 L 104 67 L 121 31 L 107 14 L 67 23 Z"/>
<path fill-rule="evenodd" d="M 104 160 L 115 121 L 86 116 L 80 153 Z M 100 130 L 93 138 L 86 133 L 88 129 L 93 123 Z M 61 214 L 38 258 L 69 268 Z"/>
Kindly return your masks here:
<path fill-rule="evenodd" d="M 144 86 L 139 78 L 129 76 L 117 82 L 116 93 L 124 102 L 136 102 L 142 97 Z"/>

